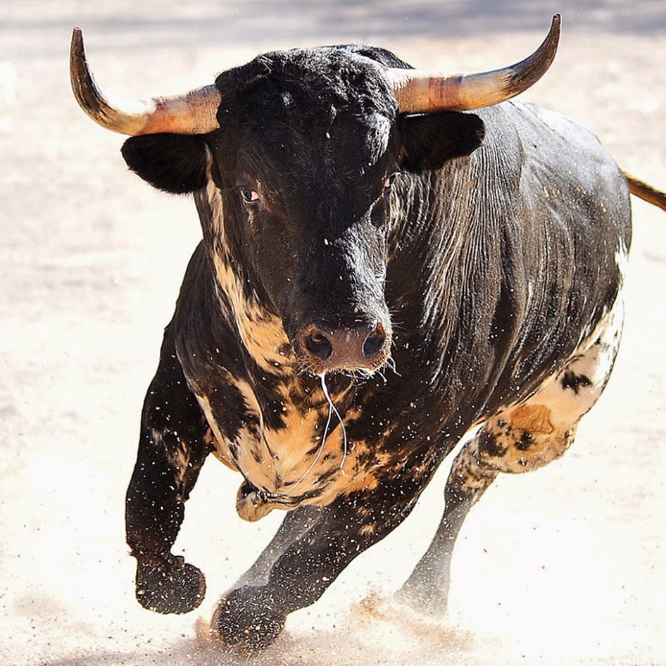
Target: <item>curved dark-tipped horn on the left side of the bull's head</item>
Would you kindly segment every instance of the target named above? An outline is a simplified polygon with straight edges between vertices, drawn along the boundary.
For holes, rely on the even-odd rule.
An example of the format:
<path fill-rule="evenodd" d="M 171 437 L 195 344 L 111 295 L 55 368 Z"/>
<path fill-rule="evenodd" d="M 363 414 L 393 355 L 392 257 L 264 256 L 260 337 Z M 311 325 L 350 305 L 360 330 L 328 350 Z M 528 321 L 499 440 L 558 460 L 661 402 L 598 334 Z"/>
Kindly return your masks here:
<path fill-rule="evenodd" d="M 214 85 L 185 95 L 152 99 L 111 98 L 88 68 L 83 34 L 75 27 L 70 51 L 70 77 L 81 108 L 102 127 L 120 134 L 207 134 L 217 130 L 216 113 L 222 98 Z"/>

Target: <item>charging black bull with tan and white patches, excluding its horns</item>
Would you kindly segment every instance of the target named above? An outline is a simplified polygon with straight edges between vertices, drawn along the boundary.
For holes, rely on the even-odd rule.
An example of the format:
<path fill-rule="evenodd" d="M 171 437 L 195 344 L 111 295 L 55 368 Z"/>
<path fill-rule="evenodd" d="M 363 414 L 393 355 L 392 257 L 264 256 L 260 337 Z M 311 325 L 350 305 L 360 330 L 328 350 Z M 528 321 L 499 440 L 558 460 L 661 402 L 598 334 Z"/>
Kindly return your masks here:
<path fill-rule="evenodd" d="M 213 131 L 123 147 L 194 193 L 203 227 L 127 491 L 137 598 L 201 603 L 170 549 L 209 453 L 244 476 L 242 517 L 289 511 L 218 605 L 228 646 L 275 640 L 479 427 L 399 593 L 446 610 L 467 510 L 498 472 L 565 451 L 617 351 L 629 185 L 595 137 L 513 101 L 399 113 L 379 65 L 406 68 L 360 47 L 260 56 L 218 77 Z"/>

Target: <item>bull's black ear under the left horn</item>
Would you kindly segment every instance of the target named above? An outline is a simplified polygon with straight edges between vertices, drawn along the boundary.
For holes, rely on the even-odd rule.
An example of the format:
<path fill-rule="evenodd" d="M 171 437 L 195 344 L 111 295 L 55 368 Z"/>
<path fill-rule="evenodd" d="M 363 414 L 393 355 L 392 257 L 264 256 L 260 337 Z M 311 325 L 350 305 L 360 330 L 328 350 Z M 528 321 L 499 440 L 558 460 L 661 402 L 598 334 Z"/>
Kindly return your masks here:
<path fill-rule="evenodd" d="M 127 139 L 122 156 L 153 187 L 187 194 L 206 185 L 206 142 L 195 134 L 146 134 Z"/>

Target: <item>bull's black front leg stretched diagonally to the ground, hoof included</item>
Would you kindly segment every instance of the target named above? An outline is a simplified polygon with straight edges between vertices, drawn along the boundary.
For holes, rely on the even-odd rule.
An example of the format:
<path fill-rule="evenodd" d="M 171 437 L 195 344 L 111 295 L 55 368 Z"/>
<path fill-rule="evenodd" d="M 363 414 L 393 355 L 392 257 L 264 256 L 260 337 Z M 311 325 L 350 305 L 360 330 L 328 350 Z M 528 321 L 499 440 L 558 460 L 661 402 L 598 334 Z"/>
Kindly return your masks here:
<path fill-rule="evenodd" d="M 264 584 L 244 585 L 222 598 L 213 633 L 234 651 L 269 646 L 290 612 L 317 601 L 354 558 L 407 517 L 421 488 L 401 474 L 322 508 L 304 534 L 282 544 Z"/>

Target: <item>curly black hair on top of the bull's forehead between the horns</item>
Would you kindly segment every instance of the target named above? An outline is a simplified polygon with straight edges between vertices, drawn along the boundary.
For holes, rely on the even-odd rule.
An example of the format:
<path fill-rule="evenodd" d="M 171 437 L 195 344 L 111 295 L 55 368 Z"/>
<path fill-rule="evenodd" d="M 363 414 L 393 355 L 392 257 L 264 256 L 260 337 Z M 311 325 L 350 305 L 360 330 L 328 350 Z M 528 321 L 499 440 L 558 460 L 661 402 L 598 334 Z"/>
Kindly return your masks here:
<path fill-rule="evenodd" d="M 327 154 L 353 143 L 371 161 L 387 149 L 395 96 L 381 65 L 349 49 L 275 51 L 223 73 L 217 84 L 220 125 L 232 119 L 259 142 L 307 143 Z"/>

